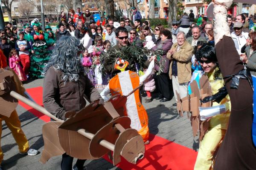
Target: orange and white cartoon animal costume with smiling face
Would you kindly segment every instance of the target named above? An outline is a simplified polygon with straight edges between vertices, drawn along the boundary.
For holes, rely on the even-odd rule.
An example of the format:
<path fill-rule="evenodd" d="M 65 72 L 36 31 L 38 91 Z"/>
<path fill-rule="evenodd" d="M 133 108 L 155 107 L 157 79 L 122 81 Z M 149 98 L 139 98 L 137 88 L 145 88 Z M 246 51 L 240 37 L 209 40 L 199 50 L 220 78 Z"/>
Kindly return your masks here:
<path fill-rule="evenodd" d="M 137 72 L 130 70 L 125 71 L 128 66 L 128 62 L 120 58 L 117 59 L 115 69 L 120 70 L 116 76 L 114 76 L 105 89 L 101 92 L 101 96 L 104 101 L 107 101 L 107 95 L 128 95 L 129 92 L 136 89 L 143 81 L 151 75 L 154 68 L 154 60 L 148 66 L 144 75 L 139 77 Z M 131 128 L 136 129 L 138 133 L 143 137 L 144 142 L 148 142 L 149 129 L 148 129 L 148 115 L 145 108 L 140 102 L 139 89 L 133 94 L 127 97 L 127 102 L 124 106 L 124 115 L 131 118 Z"/>

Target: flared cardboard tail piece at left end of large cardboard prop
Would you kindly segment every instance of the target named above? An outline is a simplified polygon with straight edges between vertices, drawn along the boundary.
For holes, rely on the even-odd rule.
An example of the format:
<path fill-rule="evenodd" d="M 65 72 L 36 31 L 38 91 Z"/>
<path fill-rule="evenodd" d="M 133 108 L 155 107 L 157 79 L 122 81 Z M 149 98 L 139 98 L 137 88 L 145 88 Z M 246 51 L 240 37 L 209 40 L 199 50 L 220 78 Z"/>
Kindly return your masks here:
<path fill-rule="evenodd" d="M 44 138 L 44 150 L 40 162 L 45 164 L 49 158 L 65 153 L 58 138 L 58 127 L 61 122 L 51 121 L 43 125 L 42 133 Z"/>

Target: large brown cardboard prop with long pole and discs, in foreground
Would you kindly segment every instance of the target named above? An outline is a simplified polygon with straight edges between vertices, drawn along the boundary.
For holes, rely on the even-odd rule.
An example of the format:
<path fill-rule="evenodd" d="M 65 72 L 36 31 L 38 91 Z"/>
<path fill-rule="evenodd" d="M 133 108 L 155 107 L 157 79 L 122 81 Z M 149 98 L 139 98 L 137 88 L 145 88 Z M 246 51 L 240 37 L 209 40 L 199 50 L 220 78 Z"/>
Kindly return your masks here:
<path fill-rule="evenodd" d="M 42 163 L 64 153 L 79 159 L 98 159 L 113 151 L 113 165 L 121 161 L 120 156 L 133 164 L 144 157 L 143 138 L 130 129 L 130 118 L 118 113 L 123 111 L 126 96 L 115 96 L 105 104 L 92 102 L 79 112 L 66 113 L 69 118 L 63 121 L 16 92 L 10 94 L 56 120 L 43 125 Z"/>

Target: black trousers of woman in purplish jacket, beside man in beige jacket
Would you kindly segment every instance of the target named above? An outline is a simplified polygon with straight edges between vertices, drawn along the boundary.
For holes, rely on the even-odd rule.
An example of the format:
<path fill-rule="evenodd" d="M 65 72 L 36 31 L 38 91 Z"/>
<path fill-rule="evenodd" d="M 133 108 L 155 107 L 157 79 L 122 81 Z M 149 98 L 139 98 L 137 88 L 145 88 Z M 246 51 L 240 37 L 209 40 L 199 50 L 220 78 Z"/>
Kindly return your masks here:
<path fill-rule="evenodd" d="M 171 92 L 169 88 L 169 75 L 168 73 L 161 73 L 156 75 L 157 89 L 160 95 L 171 100 Z"/>

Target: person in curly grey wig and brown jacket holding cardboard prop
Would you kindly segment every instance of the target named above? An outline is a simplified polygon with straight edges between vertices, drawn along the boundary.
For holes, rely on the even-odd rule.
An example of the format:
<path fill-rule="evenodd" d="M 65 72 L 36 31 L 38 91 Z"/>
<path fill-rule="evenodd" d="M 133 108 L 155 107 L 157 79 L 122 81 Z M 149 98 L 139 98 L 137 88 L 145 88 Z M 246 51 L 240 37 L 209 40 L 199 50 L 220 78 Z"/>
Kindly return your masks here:
<path fill-rule="evenodd" d="M 82 44 L 76 37 L 63 36 L 56 42 L 49 63 L 44 67 L 43 103 L 45 109 L 57 118 L 65 120 L 68 111 L 79 111 L 89 101 L 103 103 L 99 92 L 91 84 L 79 54 Z M 62 155 L 61 170 L 72 169 L 73 157 Z M 85 160 L 78 159 L 74 170 L 83 170 Z"/>

